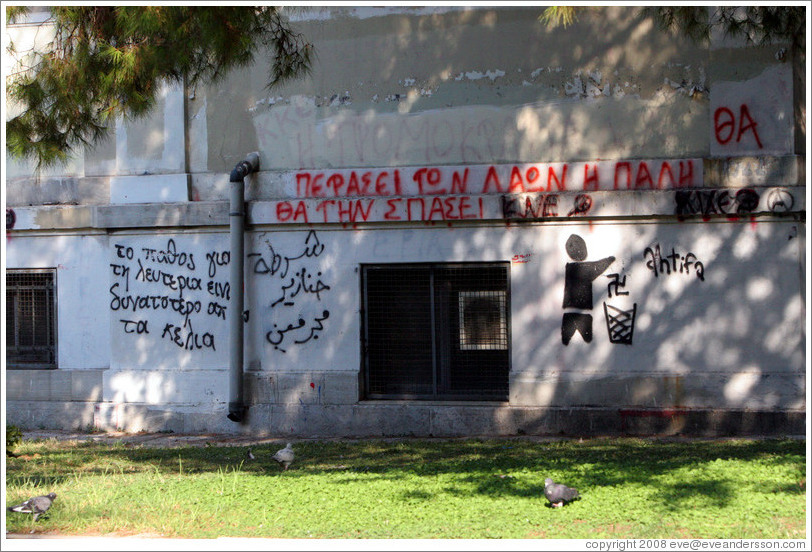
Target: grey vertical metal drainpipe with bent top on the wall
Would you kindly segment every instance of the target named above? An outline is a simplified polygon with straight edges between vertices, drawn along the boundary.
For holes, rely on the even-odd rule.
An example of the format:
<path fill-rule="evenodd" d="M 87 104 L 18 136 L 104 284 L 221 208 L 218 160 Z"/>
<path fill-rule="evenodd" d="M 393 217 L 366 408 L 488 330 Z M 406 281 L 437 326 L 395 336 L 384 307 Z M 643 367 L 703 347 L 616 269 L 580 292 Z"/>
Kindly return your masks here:
<path fill-rule="evenodd" d="M 228 419 L 242 422 L 248 407 L 243 398 L 243 310 L 245 286 L 245 177 L 259 170 L 259 153 L 249 153 L 231 171 L 229 227 L 231 232 L 230 278 L 231 300 L 229 301 L 229 399 Z"/>

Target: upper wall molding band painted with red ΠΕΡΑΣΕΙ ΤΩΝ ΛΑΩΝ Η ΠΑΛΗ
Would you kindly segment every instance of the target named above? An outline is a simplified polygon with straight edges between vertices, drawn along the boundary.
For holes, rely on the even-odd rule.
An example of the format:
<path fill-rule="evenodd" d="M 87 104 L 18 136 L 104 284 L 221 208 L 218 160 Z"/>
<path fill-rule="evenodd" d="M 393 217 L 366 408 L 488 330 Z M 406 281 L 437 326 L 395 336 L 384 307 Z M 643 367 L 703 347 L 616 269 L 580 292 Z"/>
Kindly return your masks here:
<path fill-rule="evenodd" d="M 465 193 L 475 195 L 483 191 L 499 194 L 791 187 L 805 184 L 805 162 L 803 155 L 787 155 L 261 170 L 247 179 L 246 199 L 454 195 L 462 193 L 463 187 Z M 175 196 L 177 201 L 225 201 L 228 180 L 227 173 L 13 177 L 6 179 L 6 205 L 17 208 L 162 203 L 174 201 L 170 197 Z"/>

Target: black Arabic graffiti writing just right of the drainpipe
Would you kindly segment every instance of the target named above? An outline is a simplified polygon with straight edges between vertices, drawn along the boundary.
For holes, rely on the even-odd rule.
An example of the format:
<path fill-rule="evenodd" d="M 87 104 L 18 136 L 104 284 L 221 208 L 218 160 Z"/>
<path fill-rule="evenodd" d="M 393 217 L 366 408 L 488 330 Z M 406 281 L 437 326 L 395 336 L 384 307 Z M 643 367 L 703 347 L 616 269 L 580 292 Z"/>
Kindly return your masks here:
<path fill-rule="evenodd" d="M 286 353 L 292 345 L 318 339 L 330 317 L 330 311 L 319 306 L 330 291 L 319 259 L 325 246 L 315 230 L 308 231 L 301 244 L 285 240 L 280 245 L 270 238 L 263 243 L 264 250 L 249 253 L 248 259 L 253 273 L 271 286 L 268 309 L 273 323 L 265 339 L 275 351 Z"/>

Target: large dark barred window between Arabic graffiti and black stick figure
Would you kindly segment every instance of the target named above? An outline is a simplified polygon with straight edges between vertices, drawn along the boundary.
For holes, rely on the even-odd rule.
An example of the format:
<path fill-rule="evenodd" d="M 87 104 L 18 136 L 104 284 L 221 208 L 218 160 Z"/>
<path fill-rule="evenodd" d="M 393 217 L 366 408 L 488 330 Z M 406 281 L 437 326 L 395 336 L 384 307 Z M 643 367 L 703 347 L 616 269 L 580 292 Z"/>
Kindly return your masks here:
<path fill-rule="evenodd" d="M 508 266 L 363 266 L 365 397 L 507 400 Z"/>

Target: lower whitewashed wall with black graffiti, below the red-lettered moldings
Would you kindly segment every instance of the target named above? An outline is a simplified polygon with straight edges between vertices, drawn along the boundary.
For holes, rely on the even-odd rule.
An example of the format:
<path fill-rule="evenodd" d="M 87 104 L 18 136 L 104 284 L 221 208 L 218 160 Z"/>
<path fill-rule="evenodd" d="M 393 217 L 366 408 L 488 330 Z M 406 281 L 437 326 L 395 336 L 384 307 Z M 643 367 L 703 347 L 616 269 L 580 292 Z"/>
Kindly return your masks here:
<path fill-rule="evenodd" d="M 257 229 L 249 396 L 259 409 L 357 402 L 359 265 L 509 259 L 511 406 L 802 410 L 799 231 L 791 220 Z M 591 284 L 591 341 L 565 344 L 573 234 L 586 262 L 614 259 Z M 21 238 L 9 266 L 58 263 L 60 368 L 109 366 L 100 419 L 116 405 L 224 412 L 227 234 L 88 239 Z"/>

